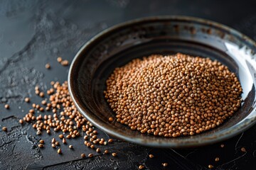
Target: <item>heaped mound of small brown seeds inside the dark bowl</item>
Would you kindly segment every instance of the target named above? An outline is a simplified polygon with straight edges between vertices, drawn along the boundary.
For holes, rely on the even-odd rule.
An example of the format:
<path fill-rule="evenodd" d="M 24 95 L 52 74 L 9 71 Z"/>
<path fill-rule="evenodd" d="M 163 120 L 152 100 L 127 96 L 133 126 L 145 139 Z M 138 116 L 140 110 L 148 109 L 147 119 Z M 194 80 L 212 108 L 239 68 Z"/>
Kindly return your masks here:
<path fill-rule="evenodd" d="M 228 67 L 180 53 L 132 60 L 114 69 L 106 83 L 117 122 L 164 137 L 215 128 L 241 103 L 240 82 Z"/>

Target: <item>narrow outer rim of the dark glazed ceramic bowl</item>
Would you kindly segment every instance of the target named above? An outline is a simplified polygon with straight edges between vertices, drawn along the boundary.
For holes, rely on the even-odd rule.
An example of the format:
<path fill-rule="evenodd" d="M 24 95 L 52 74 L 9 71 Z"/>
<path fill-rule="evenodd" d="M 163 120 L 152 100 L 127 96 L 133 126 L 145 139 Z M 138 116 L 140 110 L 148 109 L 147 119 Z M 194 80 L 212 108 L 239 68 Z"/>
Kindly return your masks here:
<path fill-rule="evenodd" d="M 233 28 L 225 26 L 221 23 L 217 23 L 215 21 L 210 21 L 210 20 L 206 20 L 203 18 L 197 18 L 197 17 L 192 17 L 192 16 L 150 16 L 150 17 L 137 18 L 134 20 L 119 23 L 110 28 L 102 30 L 102 32 L 98 33 L 97 35 L 92 37 L 90 40 L 85 42 L 85 45 L 82 45 L 82 47 L 80 47 L 80 50 L 78 50 L 75 57 L 73 58 L 73 62 L 70 64 L 70 69 L 68 72 L 68 90 L 70 92 L 70 96 L 71 96 L 73 102 L 75 103 L 75 106 L 78 108 L 78 111 L 80 111 L 80 113 L 83 116 L 85 116 L 85 118 L 87 118 L 87 120 L 89 120 L 93 125 L 95 125 L 95 127 L 99 128 L 100 130 L 102 130 L 104 132 L 107 132 L 107 134 L 112 135 L 113 137 L 117 137 L 119 139 L 125 140 L 127 142 L 134 142 L 139 145 L 144 145 L 144 146 L 148 146 L 148 147 L 184 148 L 184 147 L 199 147 L 199 146 L 203 146 L 203 145 L 209 145 L 209 144 L 213 144 L 213 143 L 220 142 L 223 140 L 227 140 L 231 137 L 234 137 L 235 135 L 240 134 L 240 132 L 243 132 L 244 130 L 247 130 L 248 128 L 252 127 L 252 125 L 255 125 L 256 116 L 253 118 L 249 118 L 249 120 L 247 120 L 248 119 L 247 118 L 248 115 L 247 115 L 245 118 L 240 120 L 240 123 L 237 123 L 225 130 L 220 130 L 219 132 L 215 132 L 213 134 L 203 136 L 202 137 L 203 140 L 201 139 L 200 141 L 193 140 L 193 142 L 190 141 L 190 142 L 177 142 L 177 143 L 176 142 L 148 142 L 148 141 L 144 141 L 140 137 L 135 137 L 135 136 L 130 137 L 129 135 L 120 135 L 119 132 L 114 131 L 114 128 L 111 128 L 107 124 L 101 123 L 100 121 L 97 121 L 97 120 L 95 121 L 92 118 L 90 118 L 90 115 L 87 115 L 88 110 L 87 110 L 87 108 L 82 107 L 82 104 L 78 101 L 78 97 L 76 96 L 75 90 L 74 90 L 75 84 L 73 84 L 73 81 L 72 81 L 72 79 L 73 79 L 72 75 L 73 75 L 73 70 L 75 67 L 75 62 L 78 61 L 80 54 L 85 50 L 85 48 L 88 45 L 90 45 L 92 42 L 98 40 L 99 38 L 102 38 L 106 33 L 110 33 L 110 32 L 113 32 L 114 30 L 128 27 L 128 26 L 136 24 L 136 23 L 142 23 L 142 22 L 146 22 L 146 21 L 158 21 L 158 20 L 193 21 L 193 22 L 201 23 L 201 24 L 204 24 L 207 26 L 221 28 L 221 29 L 227 31 L 228 33 L 232 33 L 233 35 L 236 35 L 236 36 L 242 38 L 242 40 L 244 42 L 247 42 L 247 44 L 250 44 L 250 45 L 256 47 L 256 42 L 254 40 L 247 37 L 247 35 L 244 35 L 244 34 L 238 32 L 238 30 L 235 30 Z M 91 111 L 89 111 L 89 112 L 91 112 Z"/>

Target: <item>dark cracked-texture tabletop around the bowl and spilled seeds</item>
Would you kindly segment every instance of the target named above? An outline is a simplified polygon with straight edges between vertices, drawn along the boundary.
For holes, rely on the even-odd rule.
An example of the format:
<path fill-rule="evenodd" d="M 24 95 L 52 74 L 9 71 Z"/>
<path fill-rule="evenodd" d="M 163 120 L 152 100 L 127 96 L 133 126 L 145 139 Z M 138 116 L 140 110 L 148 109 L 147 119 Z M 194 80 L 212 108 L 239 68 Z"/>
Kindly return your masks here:
<path fill-rule="evenodd" d="M 34 86 L 50 87 L 50 81 L 68 79 L 68 67 L 56 61 L 58 56 L 73 60 L 75 53 L 93 35 L 114 24 L 133 18 L 156 15 L 186 15 L 223 23 L 256 40 L 256 1 L 0 1 L 0 169 L 255 169 L 256 125 L 230 140 L 190 149 L 154 149 L 114 139 L 102 149 L 117 152 L 96 154 L 83 145 L 82 137 L 68 141 L 70 152 L 63 147 L 57 154 L 50 147 L 52 135 L 36 135 L 31 124 L 18 123 L 41 98 Z M 45 64 L 50 63 L 51 69 Z M 25 97 L 31 103 L 25 103 Z M 8 103 L 10 109 L 4 105 Z M 104 132 L 100 134 L 108 137 Z M 38 148 L 44 139 L 46 147 Z M 225 147 L 220 147 L 224 144 Z M 246 152 L 241 152 L 245 147 Z M 95 153 L 81 159 L 82 152 Z M 149 154 L 154 154 L 149 159 Z M 215 157 L 220 161 L 215 162 Z"/>

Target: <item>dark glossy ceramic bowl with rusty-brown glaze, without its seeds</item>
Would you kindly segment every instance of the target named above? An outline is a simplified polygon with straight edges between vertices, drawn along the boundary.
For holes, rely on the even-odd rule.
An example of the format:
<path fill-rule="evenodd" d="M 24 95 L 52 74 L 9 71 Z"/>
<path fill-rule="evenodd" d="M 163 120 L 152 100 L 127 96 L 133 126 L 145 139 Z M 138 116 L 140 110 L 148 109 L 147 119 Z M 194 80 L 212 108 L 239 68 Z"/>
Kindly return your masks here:
<path fill-rule="evenodd" d="M 227 65 L 240 79 L 242 107 L 219 127 L 200 135 L 165 138 L 142 135 L 109 122 L 114 113 L 105 101 L 105 81 L 115 67 L 151 54 L 186 53 Z M 150 147 L 195 147 L 228 139 L 256 122 L 256 44 L 220 23 L 187 16 L 141 18 L 102 31 L 75 56 L 68 75 L 70 94 L 82 115 L 122 140 Z"/>

